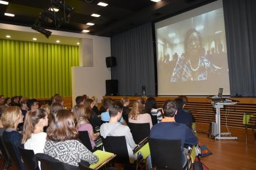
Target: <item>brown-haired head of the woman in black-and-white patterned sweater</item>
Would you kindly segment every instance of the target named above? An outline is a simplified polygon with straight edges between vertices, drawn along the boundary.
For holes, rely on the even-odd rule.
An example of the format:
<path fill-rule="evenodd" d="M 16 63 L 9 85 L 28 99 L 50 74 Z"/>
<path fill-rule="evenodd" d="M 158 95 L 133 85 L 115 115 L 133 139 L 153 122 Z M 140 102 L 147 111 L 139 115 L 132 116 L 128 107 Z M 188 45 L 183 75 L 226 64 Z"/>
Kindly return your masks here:
<path fill-rule="evenodd" d="M 76 117 L 70 110 L 56 111 L 47 129 L 47 140 L 62 142 L 78 139 Z"/>

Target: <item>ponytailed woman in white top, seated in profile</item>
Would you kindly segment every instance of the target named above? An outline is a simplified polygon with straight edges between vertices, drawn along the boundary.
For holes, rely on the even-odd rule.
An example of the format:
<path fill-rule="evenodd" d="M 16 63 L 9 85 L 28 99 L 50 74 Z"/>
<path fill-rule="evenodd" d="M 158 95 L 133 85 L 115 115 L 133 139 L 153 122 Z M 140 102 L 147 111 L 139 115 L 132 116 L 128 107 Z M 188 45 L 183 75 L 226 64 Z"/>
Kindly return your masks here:
<path fill-rule="evenodd" d="M 33 150 L 35 154 L 44 153 L 47 136 L 44 132 L 45 126 L 48 126 L 48 114 L 44 109 L 37 108 L 26 114 L 22 138 L 24 149 Z"/>

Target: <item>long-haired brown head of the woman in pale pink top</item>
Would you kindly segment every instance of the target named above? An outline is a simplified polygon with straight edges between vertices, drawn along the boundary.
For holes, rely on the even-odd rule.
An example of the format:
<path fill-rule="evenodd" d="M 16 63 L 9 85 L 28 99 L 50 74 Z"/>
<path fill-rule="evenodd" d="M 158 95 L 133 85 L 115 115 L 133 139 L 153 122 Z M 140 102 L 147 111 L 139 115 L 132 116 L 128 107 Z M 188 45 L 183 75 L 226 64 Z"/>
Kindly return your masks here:
<path fill-rule="evenodd" d="M 133 120 L 137 120 L 137 116 L 139 114 L 145 113 L 145 100 L 143 97 L 139 97 L 134 103 L 133 107 L 131 108 L 131 111 L 129 113 L 129 118 Z"/>

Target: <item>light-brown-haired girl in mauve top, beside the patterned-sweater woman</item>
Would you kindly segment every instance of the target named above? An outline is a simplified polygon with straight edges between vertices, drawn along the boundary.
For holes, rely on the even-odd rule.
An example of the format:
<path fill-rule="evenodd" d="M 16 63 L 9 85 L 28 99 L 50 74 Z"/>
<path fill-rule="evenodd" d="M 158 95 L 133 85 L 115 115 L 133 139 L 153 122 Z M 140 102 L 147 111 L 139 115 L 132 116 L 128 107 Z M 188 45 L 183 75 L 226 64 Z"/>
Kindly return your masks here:
<path fill-rule="evenodd" d="M 93 132 L 93 126 L 90 124 L 87 118 L 87 114 L 85 114 L 84 106 L 79 104 L 73 107 L 73 113 L 76 117 L 77 121 L 77 129 L 78 131 L 87 131 L 89 134 L 91 147 L 94 149 L 95 143 L 94 140 L 98 138 L 99 133 Z"/>

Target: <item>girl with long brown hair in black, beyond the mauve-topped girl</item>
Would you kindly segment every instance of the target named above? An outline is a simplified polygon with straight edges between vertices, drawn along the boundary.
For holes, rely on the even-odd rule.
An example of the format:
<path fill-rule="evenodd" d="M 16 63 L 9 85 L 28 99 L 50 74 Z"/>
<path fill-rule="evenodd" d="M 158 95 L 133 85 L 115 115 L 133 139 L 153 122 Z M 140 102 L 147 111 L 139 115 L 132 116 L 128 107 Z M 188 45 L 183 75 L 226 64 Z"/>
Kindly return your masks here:
<path fill-rule="evenodd" d="M 101 125 L 101 120 L 98 118 L 97 114 L 93 111 L 93 100 L 92 99 L 86 99 L 84 102 L 84 109 L 86 110 L 86 116 L 88 117 L 88 121 L 93 126 L 93 129 L 95 127 Z"/>

